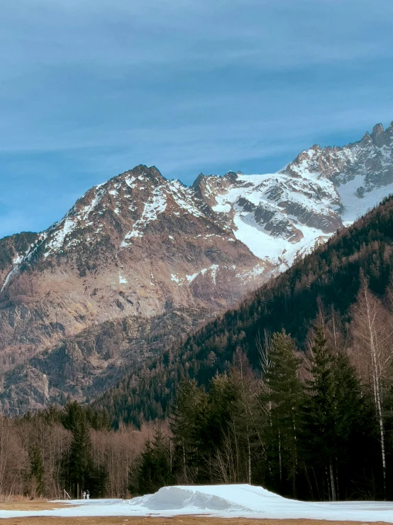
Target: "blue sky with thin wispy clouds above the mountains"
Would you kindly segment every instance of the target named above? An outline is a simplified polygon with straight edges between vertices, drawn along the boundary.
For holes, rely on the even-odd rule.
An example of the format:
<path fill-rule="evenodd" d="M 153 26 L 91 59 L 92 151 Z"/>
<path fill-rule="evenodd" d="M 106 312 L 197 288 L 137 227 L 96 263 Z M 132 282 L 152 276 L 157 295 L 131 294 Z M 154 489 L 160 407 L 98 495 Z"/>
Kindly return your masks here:
<path fill-rule="evenodd" d="M 392 0 L 14 0 L 0 18 L 0 237 L 144 163 L 277 171 L 393 120 Z"/>

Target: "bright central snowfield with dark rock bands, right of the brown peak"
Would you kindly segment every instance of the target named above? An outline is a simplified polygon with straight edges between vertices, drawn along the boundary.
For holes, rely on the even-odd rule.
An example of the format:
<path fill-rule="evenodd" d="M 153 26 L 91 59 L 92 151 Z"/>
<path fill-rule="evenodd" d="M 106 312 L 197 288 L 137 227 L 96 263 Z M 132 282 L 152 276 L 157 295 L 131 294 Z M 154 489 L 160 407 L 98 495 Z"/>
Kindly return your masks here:
<path fill-rule="evenodd" d="M 330 180 L 228 173 L 205 177 L 203 183 L 211 209 L 236 239 L 280 270 L 341 226 L 335 210 L 339 197 Z"/>

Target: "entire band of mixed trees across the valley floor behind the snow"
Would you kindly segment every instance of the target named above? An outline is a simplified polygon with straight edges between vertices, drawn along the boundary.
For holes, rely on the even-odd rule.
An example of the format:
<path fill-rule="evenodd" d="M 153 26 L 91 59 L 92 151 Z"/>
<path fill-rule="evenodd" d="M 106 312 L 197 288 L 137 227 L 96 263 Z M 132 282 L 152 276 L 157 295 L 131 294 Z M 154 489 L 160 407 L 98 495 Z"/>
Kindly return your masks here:
<path fill-rule="evenodd" d="M 0 494 L 247 482 L 300 499 L 392 499 L 392 298 L 363 276 L 349 324 L 320 302 L 304 347 L 265 330 L 258 367 L 239 346 L 206 384 L 184 374 L 168 416 L 138 429 L 77 402 L 1 416 Z"/>

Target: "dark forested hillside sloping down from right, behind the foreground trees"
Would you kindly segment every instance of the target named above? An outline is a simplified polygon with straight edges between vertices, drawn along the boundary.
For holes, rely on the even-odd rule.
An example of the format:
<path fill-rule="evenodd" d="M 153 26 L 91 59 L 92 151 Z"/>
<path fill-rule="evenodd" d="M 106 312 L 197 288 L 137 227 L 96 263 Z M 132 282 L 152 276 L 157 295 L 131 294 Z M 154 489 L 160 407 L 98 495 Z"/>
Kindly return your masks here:
<path fill-rule="evenodd" d="M 350 309 L 362 276 L 367 278 L 370 291 L 386 303 L 392 264 L 393 198 L 389 197 L 352 227 L 342 229 L 327 244 L 251 293 L 238 308 L 190 336 L 184 345 L 129 374 L 96 401 L 96 406 L 106 408 L 115 425 L 165 416 L 182 378 L 209 384 L 216 372 L 223 372 L 233 361 L 237 348 L 258 369 L 266 338 L 284 328 L 299 349 L 306 350 L 307 335 L 319 308 L 326 319 L 335 319 L 340 337 L 350 345 Z"/>

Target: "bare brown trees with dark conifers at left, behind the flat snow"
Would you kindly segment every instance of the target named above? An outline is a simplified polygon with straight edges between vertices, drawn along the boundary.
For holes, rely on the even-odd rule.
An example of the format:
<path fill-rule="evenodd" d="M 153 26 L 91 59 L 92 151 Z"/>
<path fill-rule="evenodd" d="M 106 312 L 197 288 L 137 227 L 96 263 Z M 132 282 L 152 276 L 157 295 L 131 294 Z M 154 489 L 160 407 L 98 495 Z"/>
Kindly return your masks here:
<path fill-rule="evenodd" d="M 111 429 L 105 413 L 70 402 L 22 417 L 0 416 L 0 497 L 126 496 L 128 472 L 153 426 Z"/>

